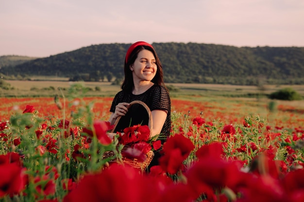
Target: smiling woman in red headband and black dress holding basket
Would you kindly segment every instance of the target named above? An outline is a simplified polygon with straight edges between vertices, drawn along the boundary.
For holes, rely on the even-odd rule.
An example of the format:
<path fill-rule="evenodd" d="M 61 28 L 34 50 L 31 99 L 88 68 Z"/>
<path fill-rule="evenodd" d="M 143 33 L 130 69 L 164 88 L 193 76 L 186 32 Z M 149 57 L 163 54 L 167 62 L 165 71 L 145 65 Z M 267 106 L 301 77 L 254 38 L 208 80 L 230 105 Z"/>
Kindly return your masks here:
<path fill-rule="evenodd" d="M 125 78 L 112 102 L 109 122 L 114 124 L 122 116 L 114 132 L 136 124 L 148 125 L 146 109 L 130 102 L 144 102 L 152 112 L 152 134 L 169 137 L 171 127 L 171 102 L 163 80 L 163 69 L 152 45 L 139 41 L 129 47 L 124 63 Z M 128 112 L 128 113 L 127 113 Z M 166 139 L 162 139 L 164 142 Z M 157 164 L 158 153 L 151 165 Z M 154 162 L 153 162 L 154 161 Z M 156 161 L 156 162 L 155 162 Z"/>

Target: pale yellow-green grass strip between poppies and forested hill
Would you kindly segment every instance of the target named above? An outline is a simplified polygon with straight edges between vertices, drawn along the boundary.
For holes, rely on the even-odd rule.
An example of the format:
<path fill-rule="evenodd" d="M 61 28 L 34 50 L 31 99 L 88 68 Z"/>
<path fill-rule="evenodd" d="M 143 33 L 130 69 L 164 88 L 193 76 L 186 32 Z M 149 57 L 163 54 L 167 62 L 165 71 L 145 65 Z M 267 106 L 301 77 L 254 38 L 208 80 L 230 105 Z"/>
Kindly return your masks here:
<path fill-rule="evenodd" d="M 56 78 L 45 81 L 46 78 L 38 78 L 32 81 L 8 80 L 6 81 L 14 90 L 0 90 L 0 96 L 52 96 L 57 89 L 68 89 L 72 82 L 67 79 L 56 80 Z M 58 79 L 58 78 L 57 78 Z M 84 85 L 90 89 L 89 96 L 113 96 L 120 90 L 118 85 L 111 85 L 110 82 L 85 82 Z M 293 88 L 304 96 L 304 85 L 276 86 L 265 85 L 263 88 L 256 86 L 237 86 L 220 84 L 187 84 L 167 83 L 171 89 L 171 96 L 224 96 L 224 97 L 256 97 L 257 94 L 270 94 L 283 88 Z"/>

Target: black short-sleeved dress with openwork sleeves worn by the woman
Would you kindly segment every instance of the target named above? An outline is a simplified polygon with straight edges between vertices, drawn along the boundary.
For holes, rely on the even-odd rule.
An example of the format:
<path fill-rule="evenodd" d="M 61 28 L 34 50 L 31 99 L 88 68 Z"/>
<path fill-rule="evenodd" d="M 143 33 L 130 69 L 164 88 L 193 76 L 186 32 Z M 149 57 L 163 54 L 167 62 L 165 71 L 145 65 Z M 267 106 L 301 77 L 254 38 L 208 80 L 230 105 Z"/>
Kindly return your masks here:
<path fill-rule="evenodd" d="M 130 103 L 135 100 L 144 102 L 151 111 L 159 109 L 167 112 L 167 118 L 161 130 L 161 136 L 166 136 L 168 138 L 171 128 L 171 101 L 169 93 L 166 91 L 166 89 L 163 86 L 154 84 L 146 92 L 138 95 L 135 95 L 132 92 L 120 91 L 114 97 L 110 112 L 115 112 L 115 107 L 118 105 L 118 103 Z M 128 109 L 126 115 L 120 118 L 114 132 L 122 132 L 126 127 L 137 124 L 148 125 L 148 123 L 149 116 L 147 110 L 140 104 L 134 104 Z M 161 138 L 160 140 L 162 143 L 164 143 L 166 138 Z M 149 167 L 157 165 L 159 157 L 159 152 L 154 152 L 154 158 Z"/>

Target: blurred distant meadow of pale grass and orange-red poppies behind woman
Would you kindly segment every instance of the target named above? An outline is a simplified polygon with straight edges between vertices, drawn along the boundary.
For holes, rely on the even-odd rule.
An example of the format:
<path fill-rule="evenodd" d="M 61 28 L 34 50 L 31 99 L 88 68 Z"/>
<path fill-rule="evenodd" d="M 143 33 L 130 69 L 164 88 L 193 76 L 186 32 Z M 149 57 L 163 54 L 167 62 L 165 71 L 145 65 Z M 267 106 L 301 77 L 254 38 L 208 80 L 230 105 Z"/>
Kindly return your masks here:
<path fill-rule="evenodd" d="M 48 107 L 55 105 L 54 96 L 67 94 L 68 88 L 75 84 L 63 78 L 58 80 L 52 78 L 48 81 L 43 81 L 43 79 L 45 78 L 36 81 L 7 81 L 14 90 L 0 91 L 0 97 L 6 97 L 6 101 L 1 102 L 0 115 L 9 115 L 14 106 L 20 105 L 22 109 L 27 104 L 34 105 L 38 109 L 42 108 L 39 109 L 41 113 L 51 113 Z M 90 102 L 95 102 L 99 118 L 107 119 L 111 100 L 120 87 L 110 82 L 78 83 L 87 89 L 85 92 L 76 93 Z M 203 113 L 209 121 L 222 119 L 225 123 L 237 124 L 245 116 L 254 115 L 267 118 L 271 124 L 287 125 L 304 120 L 304 100 L 279 101 L 266 97 L 266 94 L 286 87 L 291 87 L 304 96 L 302 85 L 268 85 L 258 88 L 256 86 L 168 83 L 167 86 L 171 89 L 172 111 L 183 114 L 188 114 L 189 111 L 191 116 L 201 116 Z"/>

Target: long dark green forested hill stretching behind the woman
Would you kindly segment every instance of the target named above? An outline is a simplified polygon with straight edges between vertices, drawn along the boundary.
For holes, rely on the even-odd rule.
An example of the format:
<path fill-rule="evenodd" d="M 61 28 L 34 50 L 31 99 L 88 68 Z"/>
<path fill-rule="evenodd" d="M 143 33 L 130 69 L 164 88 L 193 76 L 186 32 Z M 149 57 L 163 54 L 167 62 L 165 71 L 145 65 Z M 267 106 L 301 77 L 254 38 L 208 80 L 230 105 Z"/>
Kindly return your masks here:
<path fill-rule="evenodd" d="M 131 44 L 101 44 L 2 67 L 4 75 L 47 75 L 72 80 L 123 76 Z M 304 47 L 233 47 L 197 43 L 153 43 L 165 82 L 258 85 L 304 84 Z"/>

